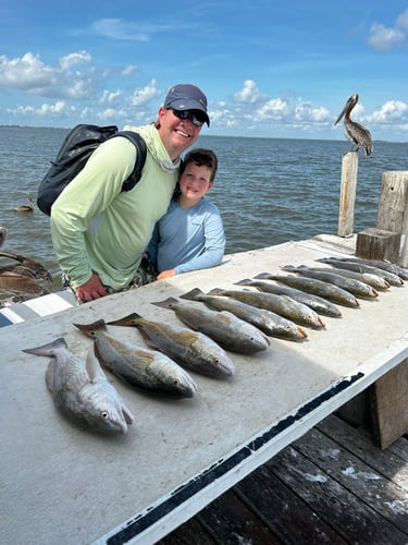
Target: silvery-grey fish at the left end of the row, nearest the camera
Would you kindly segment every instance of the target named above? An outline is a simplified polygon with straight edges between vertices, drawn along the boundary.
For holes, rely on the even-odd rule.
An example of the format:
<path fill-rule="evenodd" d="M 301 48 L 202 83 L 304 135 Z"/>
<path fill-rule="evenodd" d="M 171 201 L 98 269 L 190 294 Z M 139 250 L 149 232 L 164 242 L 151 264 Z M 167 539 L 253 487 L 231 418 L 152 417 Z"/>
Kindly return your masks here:
<path fill-rule="evenodd" d="M 57 409 L 84 427 L 104 434 L 127 434 L 134 415 L 108 382 L 95 354 L 94 344 L 86 360 L 73 354 L 63 337 L 23 352 L 52 358 L 46 384 Z"/>

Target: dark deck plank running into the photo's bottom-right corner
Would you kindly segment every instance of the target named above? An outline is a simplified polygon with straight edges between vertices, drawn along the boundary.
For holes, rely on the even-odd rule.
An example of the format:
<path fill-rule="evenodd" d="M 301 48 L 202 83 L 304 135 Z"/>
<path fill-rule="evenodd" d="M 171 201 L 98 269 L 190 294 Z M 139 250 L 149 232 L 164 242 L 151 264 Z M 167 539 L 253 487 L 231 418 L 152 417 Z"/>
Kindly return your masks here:
<path fill-rule="evenodd" d="M 367 545 L 406 543 L 404 532 L 293 447 L 276 455 L 267 465 L 344 540 Z"/>

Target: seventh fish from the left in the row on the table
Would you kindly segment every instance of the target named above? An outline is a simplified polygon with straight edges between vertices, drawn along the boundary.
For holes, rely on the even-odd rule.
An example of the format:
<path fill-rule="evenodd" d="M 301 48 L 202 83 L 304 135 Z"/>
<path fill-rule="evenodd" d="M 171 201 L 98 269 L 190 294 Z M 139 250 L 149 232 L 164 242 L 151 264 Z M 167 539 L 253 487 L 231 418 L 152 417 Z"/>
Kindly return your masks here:
<path fill-rule="evenodd" d="M 337 306 L 327 299 L 319 298 L 318 295 L 313 295 L 312 293 L 307 293 L 306 291 L 297 290 L 288 286 L 279 286 L 272 282 L 262 282 L 260 280 L 257 280 L 258 277 L 255 278 L 255 280 L 245 278 L 244 280 L 236 282 L 236 284 L 252 286 L 254 288 L 257 288 L 258 290 L 264 291 L 267 293 L 288 295 L 295 301 L 310 306 L 310 308 L 312 308 L 318 314 L 322 314 L 323 316 L 330 316 L 332 318 L 339 318 L 342 316 L 342 312 L 337 308 Z"/>

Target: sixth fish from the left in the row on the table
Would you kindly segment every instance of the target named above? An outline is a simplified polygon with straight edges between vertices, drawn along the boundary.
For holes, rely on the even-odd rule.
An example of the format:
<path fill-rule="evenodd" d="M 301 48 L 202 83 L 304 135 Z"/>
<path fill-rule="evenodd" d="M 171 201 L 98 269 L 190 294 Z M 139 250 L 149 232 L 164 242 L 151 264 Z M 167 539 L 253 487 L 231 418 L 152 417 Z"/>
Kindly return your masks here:
<path fill-rule="evenodd" d="M 276 295 L 275 293 L 260 293 L 259 291 L 222 290 L 215 288 L 210 291 L 210 295 L 225 295 L 243 303 L 247 303 L 258 308 L 264 308 L 280 314 L 284 318 L 290 319 L 298 325 L 312 327 L 313 329 L 324 328 L 322 318 L 309 306 L 294 301 L 287 295 Z"/>

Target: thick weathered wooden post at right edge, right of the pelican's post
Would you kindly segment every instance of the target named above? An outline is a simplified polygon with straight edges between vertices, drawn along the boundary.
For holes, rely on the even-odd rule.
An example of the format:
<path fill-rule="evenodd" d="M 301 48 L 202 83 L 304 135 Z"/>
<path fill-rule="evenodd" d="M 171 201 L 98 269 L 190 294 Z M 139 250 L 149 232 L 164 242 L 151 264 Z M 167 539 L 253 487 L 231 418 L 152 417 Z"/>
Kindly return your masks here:
<path fill-rule="evenodd" d="M 400 233 L 398 265 L 408 266 L 408 171 L 383 172 L 376 228 Z"/>

